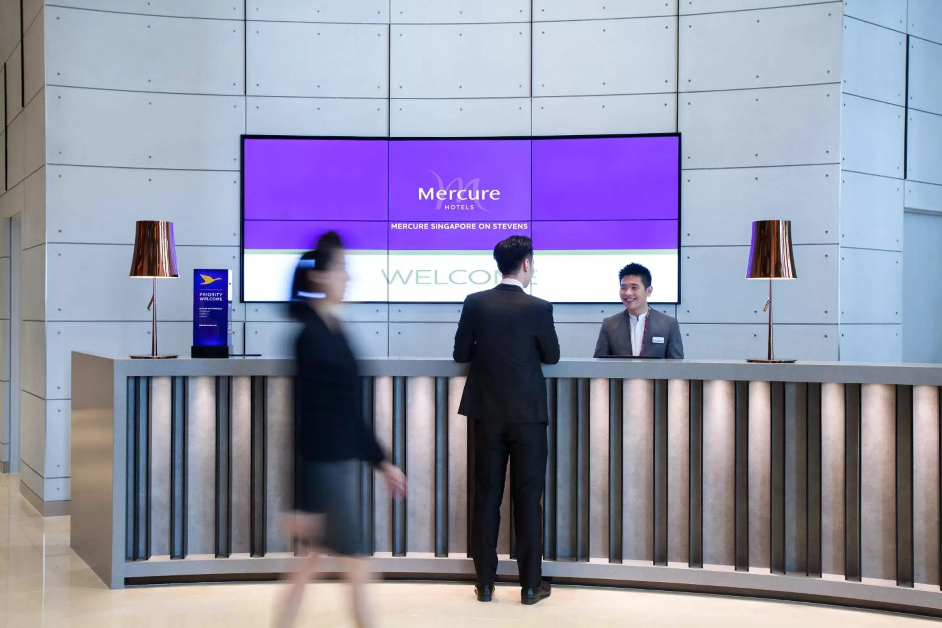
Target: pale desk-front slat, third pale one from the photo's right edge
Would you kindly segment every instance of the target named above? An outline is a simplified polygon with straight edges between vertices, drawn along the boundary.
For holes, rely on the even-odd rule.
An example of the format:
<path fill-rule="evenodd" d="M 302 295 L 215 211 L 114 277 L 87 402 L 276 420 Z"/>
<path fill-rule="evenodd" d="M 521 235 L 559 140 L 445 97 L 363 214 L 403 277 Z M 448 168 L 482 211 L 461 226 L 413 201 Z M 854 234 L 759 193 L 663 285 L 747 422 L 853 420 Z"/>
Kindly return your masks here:
<path fill-rule="evenodd" d="M 844 386 L 821 386 L 821 572 L 844 574 Z"/>

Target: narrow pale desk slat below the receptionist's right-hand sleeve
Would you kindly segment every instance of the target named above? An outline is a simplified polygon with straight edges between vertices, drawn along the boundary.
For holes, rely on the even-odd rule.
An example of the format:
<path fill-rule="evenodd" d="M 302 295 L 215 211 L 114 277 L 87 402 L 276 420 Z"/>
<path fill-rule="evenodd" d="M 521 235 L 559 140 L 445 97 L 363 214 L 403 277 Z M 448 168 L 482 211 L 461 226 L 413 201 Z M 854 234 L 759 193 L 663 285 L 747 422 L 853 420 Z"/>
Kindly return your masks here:
<path fill-rule="evenodd" d="M 690 385 L 667 385 L 667 562 L 690 562 Z"/>

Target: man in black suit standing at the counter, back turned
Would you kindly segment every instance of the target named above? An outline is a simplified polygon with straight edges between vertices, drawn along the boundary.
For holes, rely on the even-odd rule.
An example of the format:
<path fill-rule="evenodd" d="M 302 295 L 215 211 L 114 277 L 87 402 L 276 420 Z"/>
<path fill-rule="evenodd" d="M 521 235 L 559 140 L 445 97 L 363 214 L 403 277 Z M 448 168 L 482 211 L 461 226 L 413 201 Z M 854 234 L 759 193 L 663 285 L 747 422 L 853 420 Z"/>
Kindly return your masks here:
<path fill-rule="evenodd" d="M 474 422 L 474 505 L 471 552 L 480 602 L 490 602 L 497 572 L 497 529 L 507 460 L 521 602 L 549 597 L 543 580 L 540 499 L 546 477 L 546 384 L 541 362 L 560 362 L 553 305 L 525 292 L 533 278 L 533 245 L 512 235 L 494 249 L 503 281 L 464 299 L 455 362 L 467 363 L 459 413 Z"/>

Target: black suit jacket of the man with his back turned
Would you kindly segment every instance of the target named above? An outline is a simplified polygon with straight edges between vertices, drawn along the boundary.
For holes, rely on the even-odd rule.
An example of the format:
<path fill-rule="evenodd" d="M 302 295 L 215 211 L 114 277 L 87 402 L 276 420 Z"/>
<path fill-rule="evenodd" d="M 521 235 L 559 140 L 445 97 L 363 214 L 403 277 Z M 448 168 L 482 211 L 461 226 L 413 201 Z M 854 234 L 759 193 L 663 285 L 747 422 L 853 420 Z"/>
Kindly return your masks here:
<path fill-rule="evenodd" d="M 552 303 L 505 283 L 469 295 L 453 357 L 471 364 L 460 414 L 508 423 L 549 420 L 541 362 L 560 362 Z"/>

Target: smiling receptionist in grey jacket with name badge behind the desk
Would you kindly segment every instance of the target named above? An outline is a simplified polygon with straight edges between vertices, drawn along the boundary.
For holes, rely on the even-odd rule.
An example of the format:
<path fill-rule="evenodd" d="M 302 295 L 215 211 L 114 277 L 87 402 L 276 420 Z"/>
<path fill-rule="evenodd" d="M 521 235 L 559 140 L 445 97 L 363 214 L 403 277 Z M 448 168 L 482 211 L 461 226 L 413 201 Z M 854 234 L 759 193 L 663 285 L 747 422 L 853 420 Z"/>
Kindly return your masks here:
<path fill-rule="evenodd" d="M 602 321 L 595 343 L 595 357 L 638 356 L 683 360 L 684 342 L 674 316 L 652 310 L 651 271 L 640 264 L 629 264 L 618 273 L 620 296 L 625 312 Z"/>

